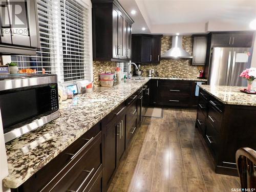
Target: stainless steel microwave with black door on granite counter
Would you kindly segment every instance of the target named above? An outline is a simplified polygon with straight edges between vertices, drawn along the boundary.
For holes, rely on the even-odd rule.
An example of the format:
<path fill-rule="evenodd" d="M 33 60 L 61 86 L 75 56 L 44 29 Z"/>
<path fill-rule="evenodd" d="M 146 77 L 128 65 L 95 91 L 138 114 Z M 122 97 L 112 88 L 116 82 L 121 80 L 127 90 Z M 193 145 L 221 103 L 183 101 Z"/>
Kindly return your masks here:
<path fill-rule="evenodd" d="M 5 142 L 59 117 L 57 75 L 0 75 Z"/>

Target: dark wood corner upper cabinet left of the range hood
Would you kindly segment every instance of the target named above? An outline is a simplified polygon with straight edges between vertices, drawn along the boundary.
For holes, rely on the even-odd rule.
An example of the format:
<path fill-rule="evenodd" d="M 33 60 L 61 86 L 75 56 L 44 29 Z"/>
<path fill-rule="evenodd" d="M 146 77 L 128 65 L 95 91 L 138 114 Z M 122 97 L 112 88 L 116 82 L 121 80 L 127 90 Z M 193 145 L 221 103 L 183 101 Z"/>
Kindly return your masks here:
<path fill-rule="evenodd" d="M 160 62 L 162 35 L 133 34 L 132 61 L 138 63 Z"/>

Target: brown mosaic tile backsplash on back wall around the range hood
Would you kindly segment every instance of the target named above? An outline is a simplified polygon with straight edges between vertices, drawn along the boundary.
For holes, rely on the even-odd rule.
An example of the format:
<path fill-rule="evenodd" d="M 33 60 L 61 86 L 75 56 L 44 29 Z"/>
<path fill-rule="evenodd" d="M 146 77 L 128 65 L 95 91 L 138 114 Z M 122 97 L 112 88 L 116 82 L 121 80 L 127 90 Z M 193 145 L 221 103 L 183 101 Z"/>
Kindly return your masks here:
<path fill-rule="evenodd" d="M 182 48 L 192 54 L 193 38 L 183 36 Z M 172 37 L 162 37 L 161 54 L 165 53 L 172 47 Z M 143 70 L 142 76 L 148 76 L 148 70 L 154 69 L 158 72 L 159 77 L 179 76 L 181 78 L 197 78 L 199 72 L 196 66 L 191 66 L 192 59 L 165 59 L 161 58 L 160 63 L 141 64 Z"/>

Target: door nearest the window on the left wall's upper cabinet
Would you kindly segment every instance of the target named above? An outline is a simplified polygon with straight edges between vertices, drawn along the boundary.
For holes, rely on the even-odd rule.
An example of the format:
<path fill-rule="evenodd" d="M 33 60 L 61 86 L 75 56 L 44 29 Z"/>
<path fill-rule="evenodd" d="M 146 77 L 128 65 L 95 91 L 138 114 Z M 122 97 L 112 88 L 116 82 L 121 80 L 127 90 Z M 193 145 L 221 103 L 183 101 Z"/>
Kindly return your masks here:
<path fill-rule="evenodd" d="M 118 58 L 118 9 L 113 8 L 113 58 Z"/>

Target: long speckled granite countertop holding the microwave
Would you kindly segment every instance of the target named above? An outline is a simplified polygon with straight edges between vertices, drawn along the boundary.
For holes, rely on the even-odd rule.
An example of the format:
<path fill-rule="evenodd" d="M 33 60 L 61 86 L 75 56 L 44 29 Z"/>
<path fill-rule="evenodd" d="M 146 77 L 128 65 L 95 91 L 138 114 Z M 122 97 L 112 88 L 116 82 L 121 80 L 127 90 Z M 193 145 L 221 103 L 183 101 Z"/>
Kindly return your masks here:
<path fill-rule="evenodd" d="M 4 185 L 9 188 L 22 185 L 150 79 L 142 77 L 117 83 L 111 88 L 94 88 L 92 93 L 63 101 L 59 106 L 61 116 L 58 119 L 6 144 L 9 175 L 3 180 Z"/>

